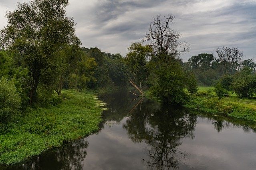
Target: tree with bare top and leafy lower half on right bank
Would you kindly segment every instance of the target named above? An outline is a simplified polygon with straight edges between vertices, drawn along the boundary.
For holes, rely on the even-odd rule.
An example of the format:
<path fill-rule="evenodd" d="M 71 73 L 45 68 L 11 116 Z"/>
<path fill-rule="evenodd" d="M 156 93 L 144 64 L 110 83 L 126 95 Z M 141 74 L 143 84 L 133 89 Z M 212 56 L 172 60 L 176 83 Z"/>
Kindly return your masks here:
<path fill-rule="evenodd" d="M 189 50 L 189 46 L 181 42 L 181 35 L 170 27 L 173 19 L 171 14 L 164 16 L 163 20 L 157 15 L 142 41 L 148 41 L 154 53 L 151 60 L 156 80 L 152 81 L 155 82 L 151 87 L 152 93 L 164 103 L 181 104 L 187 99 L 185 88 L 191 84 L 187 83 L 189 77 L 177 59 Z"/>

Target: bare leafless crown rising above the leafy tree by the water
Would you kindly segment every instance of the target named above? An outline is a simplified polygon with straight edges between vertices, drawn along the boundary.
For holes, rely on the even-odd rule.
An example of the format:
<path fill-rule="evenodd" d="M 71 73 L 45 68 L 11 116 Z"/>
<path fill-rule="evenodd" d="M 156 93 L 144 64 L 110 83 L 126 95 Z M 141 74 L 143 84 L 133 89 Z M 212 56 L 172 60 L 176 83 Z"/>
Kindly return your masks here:
<path fill-rule="evenodd" d="M 169 24 L 173 24 L 174 16 L 168 14 L 167 17 L 157 15 L 153 22 L 149 26 L 149 31 L 145 37 L 141 39 L 142 42 L 149 41 L 155 55 L 163 55 L 163 59 L 167 59 L 168 56 L 179 58 L 181 53 L 189 50 L 189 45 L 179 41 L 180 34 L 169 27 Z"/>

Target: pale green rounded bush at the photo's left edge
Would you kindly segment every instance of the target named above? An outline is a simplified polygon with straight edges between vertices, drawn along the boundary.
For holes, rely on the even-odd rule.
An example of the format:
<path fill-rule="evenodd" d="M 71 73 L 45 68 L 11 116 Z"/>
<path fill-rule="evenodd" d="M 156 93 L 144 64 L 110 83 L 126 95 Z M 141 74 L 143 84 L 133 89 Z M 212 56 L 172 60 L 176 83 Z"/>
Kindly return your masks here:
<path fill-rule="evenodd" d="M 14 82 L 2 77 L 0 79 L 0 122 L 6 123 L 11 115 L 18 113 L 20 106 L 21 99 Z"/>

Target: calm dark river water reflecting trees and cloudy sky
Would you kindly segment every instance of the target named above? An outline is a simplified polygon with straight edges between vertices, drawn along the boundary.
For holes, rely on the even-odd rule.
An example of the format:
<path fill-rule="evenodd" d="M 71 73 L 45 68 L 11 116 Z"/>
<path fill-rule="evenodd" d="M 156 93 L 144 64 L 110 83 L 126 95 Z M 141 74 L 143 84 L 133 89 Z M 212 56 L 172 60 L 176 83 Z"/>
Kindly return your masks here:
<path fill-rule="evenodd" d="M 2 169 L 256 169 L 256 129 L 130 93 L 100 99 L 109 110 L 99 132 Z"/>

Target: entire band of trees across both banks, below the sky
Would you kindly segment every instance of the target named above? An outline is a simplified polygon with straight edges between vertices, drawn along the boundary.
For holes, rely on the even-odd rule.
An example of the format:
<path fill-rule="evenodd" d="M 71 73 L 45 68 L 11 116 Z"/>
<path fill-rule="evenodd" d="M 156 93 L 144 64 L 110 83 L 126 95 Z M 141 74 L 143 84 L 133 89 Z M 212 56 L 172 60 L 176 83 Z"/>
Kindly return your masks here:
<path fill-rule="evenodd" d="M 153 18 L 141 42 L 128 47 L 126 57 L 97 47 L 81 48 L 73 18 L 65 13 L 68 4 L 69 0 L 33 0 L 6 13 L 8 24 L 0 32 L 1 122 L 29 106 L 60 103 L 63 88 L 81 92 L 126 87 L 131 81 L 164 103 L 183 104 L 189 99 L 187 91 L 197 92 L 197 81 L 212 85 L 222 77 L 223 87 L 237 90 L 246 87 L 239 82 L 254 79 L 255 63 L 242 61 L 244 55 L 237 48 L 218 48 L 218 58 L 199 54 L 183 63 L 180 55 L 189 46 L 170 28 L 171 14 Z M 246 94 L 254 93 L 252 82 Z"/>

